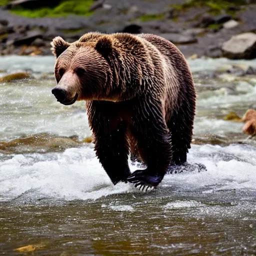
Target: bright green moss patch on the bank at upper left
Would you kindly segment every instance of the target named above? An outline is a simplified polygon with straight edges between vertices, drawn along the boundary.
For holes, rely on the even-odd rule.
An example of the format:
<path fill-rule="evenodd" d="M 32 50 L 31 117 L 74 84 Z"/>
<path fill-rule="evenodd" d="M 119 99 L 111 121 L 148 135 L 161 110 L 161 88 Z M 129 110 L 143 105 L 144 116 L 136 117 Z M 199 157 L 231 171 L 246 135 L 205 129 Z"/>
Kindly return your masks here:
<path fill-rule="evenodd" d="M 20 16 L 35 18 L 35 17 L 58 17 L 67 16 L 69 14 L 89 16 L 92 12 L 89 7 L 92 5 L 93 0 L 63 0 L 54 8 L 41 7 L 38 9 L 27 9 L 16 7 L 10 10 Z"/>

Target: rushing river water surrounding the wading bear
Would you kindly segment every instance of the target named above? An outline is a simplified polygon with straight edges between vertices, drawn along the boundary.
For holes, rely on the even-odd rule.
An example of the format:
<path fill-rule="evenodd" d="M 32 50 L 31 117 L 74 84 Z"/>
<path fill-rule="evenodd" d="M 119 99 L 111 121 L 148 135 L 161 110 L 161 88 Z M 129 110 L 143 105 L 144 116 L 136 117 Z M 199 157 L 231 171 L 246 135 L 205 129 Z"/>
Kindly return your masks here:
<path fill-rule="evenodd" d="M 81 142 L 91 134 L 83 102 L 55 100 L 53 57 L 1 57 L 0 70 L 33 78 L 0 84 L 0 254 L 255 255 L 256 141 L 223 116 L 256 108 L 256 77 L 213 75 L 241 62 L 256 66 L 189 61 L 198 99 L 188 162 L 207 171 L 168 174 L 142 193 L 112 185 Z"/>

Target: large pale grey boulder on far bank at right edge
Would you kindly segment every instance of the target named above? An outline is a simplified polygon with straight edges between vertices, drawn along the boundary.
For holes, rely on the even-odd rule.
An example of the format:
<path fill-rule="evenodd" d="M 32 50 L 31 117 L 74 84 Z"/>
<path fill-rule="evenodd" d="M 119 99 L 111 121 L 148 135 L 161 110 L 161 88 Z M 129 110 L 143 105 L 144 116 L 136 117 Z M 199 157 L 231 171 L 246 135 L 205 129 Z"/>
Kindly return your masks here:
<path fill-rule="evenodd" d="M 223 55 L 231 59 L 252 59 L 256 57 L 256 34 L 242 33 L 232 36 L 222 44 Z"/>

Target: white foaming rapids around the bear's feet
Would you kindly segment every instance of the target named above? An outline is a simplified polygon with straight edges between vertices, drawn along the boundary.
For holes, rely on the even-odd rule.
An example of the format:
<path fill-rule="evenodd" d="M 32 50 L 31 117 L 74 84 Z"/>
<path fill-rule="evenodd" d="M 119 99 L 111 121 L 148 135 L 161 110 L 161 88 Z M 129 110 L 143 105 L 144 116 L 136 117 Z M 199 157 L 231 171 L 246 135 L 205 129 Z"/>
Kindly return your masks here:
<path fill-rule="evenodd" d="M 255 152 L 251 146 L 192 145 L 188 161 L 204 163 L 207 171 L 165 175 L 159 188 L 204 188 L 205 193 L 214 192 L 209 187 L 256 190 Z M 137 189 L 130 183 L 114 186 L 90 147 L 69 148 L 62 153 L 16 154 L 0 162 L 0 200 L 17 196 L 85 200 L 134 191 Z"/>

